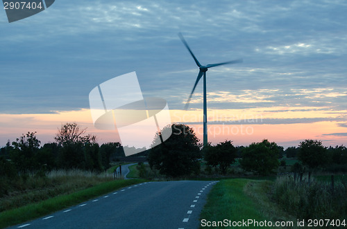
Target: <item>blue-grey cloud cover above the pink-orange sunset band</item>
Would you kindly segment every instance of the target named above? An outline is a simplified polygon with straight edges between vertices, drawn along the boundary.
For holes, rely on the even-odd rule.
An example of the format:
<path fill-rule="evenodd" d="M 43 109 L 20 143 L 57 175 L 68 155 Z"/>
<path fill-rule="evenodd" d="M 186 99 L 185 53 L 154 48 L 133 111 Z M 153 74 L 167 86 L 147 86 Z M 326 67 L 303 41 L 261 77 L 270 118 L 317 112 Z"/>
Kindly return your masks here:
<path fill-rule="evenodd" d="M 344 110 L 344 7 L 341 1 L 59 1 L 40 15 L 0 24 L 6 32 L 0 113 L 88 108 L 94 86 L 131 71 L 144 95 L 182 109 L 198 68 L 179 31 L 204 64 L 244 59 L 208 71 L 210 108 Z M 201 93 L 202 82 L 192 108 L 201 107 Z"/>

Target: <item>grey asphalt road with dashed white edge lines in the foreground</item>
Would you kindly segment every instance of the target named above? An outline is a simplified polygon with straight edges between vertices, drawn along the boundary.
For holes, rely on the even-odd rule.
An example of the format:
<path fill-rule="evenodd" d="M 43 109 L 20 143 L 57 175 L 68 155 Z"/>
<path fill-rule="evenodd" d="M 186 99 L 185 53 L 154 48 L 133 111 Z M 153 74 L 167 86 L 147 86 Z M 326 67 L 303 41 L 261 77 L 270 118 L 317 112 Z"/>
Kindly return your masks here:
<path fill-rule="evenodd" d="M 216 182 L 140 183 L 12 228 L 198 228 Z"/>

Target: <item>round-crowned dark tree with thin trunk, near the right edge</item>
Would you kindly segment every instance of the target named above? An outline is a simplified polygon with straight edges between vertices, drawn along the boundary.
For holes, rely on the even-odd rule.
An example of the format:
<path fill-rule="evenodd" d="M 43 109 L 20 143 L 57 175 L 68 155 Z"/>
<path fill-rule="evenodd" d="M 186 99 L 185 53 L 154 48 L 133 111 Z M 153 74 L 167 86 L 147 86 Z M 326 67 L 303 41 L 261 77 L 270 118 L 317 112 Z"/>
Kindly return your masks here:
<path fill-rule="evenodd" d="M 323 146 L 321 140 L 312 139 L 303 140 L 299 146 L 298 160 L 308 168 L 308 181 L 310 183 L 312 171 L 323 166 L 328 158 L 327 148 Z"/>

